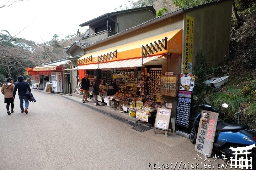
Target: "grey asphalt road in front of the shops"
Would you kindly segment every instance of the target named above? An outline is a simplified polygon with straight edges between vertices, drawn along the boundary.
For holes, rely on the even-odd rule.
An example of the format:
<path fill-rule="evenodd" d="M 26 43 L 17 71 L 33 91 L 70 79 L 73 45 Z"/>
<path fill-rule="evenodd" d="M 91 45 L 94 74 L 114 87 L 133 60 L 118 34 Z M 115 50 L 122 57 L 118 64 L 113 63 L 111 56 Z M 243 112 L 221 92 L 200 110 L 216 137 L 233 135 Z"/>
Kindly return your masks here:
<path fill-rule="evenodd" d="M 218 169 L 217 163 L 224 163 L 204 162 L 203 155 L 195 160 L 194 145 L 175 134 L 140 133 L 63 96 L 38 91 L 33 95 L 37 102 L 30 102 L 28 114 L 21 113 L 16 98 L 15 112 L 7 115 L 0 97 L 1 170 L 146 170 L 151 169 L 149 163 L 152 169 L 154 163 L 169 164 L 169 169 L 177 163 L 178 169 L 181 161 L 189 162 L 186 169 L 196 162 L 197 169 L 208 169 L 201 168 L 201 162 Z"/>

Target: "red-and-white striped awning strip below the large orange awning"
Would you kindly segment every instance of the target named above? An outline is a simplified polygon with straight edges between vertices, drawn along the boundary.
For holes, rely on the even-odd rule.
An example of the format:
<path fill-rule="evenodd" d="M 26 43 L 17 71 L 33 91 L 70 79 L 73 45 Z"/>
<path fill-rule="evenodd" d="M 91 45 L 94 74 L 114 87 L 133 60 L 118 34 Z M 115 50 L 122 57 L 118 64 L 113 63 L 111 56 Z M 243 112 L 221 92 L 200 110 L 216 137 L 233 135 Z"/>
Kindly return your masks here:
<path fill-rule="evenodd" d="M 152 57 L 143 58 L 143 64 L 152 61 L 156 58 L 162 57 L 163 55 L 157 55 Z M 99 64 L 87 64 L 81 65 L 68 70 L 95 70 L 95 69 L 110 69 L 110 68 L 134 68 L 142 67 L 142 58 L 134 58 L 128 60 L 118 60 Z M 67 70 L 67 69 L 66 69 Z"/>

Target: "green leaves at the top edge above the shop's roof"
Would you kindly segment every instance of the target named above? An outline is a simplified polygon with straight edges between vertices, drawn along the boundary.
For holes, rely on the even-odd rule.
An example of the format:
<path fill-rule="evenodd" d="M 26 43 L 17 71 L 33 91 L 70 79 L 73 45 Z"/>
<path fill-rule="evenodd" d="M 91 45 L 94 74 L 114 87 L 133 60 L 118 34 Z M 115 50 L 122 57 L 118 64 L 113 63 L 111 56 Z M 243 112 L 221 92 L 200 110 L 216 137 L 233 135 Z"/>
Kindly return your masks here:
<path fill-rule="evenodd" d="M 205 4 L 213 0 L 173 0 L 172 3 L 179 8 L 191 8 L 197 5 Z"/>

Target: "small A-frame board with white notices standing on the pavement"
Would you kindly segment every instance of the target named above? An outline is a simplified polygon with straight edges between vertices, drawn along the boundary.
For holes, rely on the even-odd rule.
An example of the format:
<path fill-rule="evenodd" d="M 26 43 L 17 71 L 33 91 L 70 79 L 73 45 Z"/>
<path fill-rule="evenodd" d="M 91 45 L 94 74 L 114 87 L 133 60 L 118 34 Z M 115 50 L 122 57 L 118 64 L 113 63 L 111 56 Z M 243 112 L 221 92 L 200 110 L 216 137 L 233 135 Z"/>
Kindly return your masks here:
<path fill-rule="evenodd" d="M 154 134 L 155 134 L 156 129 L 160 129 L 160 130 L 166 131 L 165 136 L 167 137 L 167 131 L 169 129 L 169 124 L 171 124 L 170 119 L 171 119 L 171 109 L 158 107 L 158 111 L 156 112 Z M 172 125 L 171 125 L 171 127 L 172 127 Z"/>

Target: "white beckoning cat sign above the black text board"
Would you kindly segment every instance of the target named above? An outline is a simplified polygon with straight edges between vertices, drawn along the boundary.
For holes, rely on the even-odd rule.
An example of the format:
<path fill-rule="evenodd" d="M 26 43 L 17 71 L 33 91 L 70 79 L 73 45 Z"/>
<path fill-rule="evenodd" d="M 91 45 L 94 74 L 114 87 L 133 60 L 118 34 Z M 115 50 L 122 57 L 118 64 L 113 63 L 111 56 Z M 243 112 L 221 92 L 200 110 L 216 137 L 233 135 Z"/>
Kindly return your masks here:
<path fill-rule="evenodd" d="M 181 73 L 180 79 L 181 79 L 180 90 L 193 91 L 194 80 L 196 79 L 196 77 L 192 75 L 192 73 L 188 73 L 187 75 Z"/>

